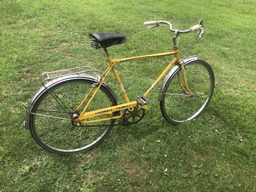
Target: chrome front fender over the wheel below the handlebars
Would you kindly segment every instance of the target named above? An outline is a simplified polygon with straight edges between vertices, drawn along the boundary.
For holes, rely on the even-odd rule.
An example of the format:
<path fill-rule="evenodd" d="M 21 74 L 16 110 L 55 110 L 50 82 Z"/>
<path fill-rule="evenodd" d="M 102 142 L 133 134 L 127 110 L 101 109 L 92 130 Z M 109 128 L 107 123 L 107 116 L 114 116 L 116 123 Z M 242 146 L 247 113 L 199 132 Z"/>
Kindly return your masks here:
<path fill-rule="evenodd" d="M 184 63 L 187 64 L 189 62 L 195 61 L 197 60 L 197 56 L 193 55 L 187 59 L 184 59 Z M 164 92 L 167 89 L 167 84 L 169 83 L 169 80 L 171 78 L 173 78 L 175 75 L 177 75 L 177 73 L 180 71 L 180 66 L 176 65 L 174 68 L 172 68 L 172 70 L 169 72 L 169 74 L 165 77 L 163 84 L 161 85 L 159 94 L 158 94 L 158 101 L 162 101 L 164 99 Z"/>

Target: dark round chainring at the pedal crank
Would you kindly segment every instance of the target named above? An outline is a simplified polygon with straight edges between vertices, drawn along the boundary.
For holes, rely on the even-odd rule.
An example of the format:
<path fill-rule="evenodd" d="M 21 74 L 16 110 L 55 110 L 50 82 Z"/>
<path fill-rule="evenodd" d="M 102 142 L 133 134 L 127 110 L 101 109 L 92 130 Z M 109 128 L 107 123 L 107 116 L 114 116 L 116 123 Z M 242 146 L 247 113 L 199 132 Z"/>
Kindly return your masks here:
<path fill-rule="evenodd" d="M 136 111 L 136 107 L 132 109 L 125 109 L 124 116 L 123 116 L 123 123 L 124 124 L 135 124 L 138 123 L 144 116 L 145 109 L 138 107 Z"/>

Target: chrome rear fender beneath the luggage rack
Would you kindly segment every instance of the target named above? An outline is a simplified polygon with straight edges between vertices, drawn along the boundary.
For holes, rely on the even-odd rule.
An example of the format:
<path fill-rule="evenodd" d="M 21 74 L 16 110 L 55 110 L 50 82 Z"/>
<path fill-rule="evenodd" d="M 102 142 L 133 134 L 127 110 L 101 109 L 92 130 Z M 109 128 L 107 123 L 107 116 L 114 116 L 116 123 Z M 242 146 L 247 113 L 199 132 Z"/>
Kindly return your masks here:
<path fill-rule="evenodd" d="M 94 77 L 94 76 L 90 76 L 90 75 L 68 75 L 68 76 L 62 76 L 58 79 L 54 79 L 50 82 L 48 82 L 47 84 L 45 84 L 44 86 L 49 89 L 51 88 L 52 86 L 60 83 L 60 82 L 65 82 L 65 81 L 69 81 L 69 80 L 74 80 L 74 79 L 86 79 L 86 80 L 91 80 L 93 83 L 97 83 L 97 77 Z M 92 83 L 92 84 L 93 84 Z M 26 116 L 25 116 L 25 121 L 24 121 L 24 128 L 25 129 L 29 129 L 29 118 L 30 118 L 30 114 L 31 114 L 31 111 L 36 103 L 36 100 L 38 98 L 40 98 L 40 96 L 45 92 L 47 91 L 47 89 L 45 87 L 41 87 L 38 92 L 34 95 L 34 97 L 31 99 L 29 105 L 28 105 L 28 109 L 26 111 Z M 103 84 L 101 86 L 104 86 L 106 89 L 108 89 L 111 94 L 114 96 L 114 98 L 116 99 L 117 101 L 117 104 L 119 104 L 119 99 L 116 95 L 116 92 L 105 82 L 103 82 Z"/>

